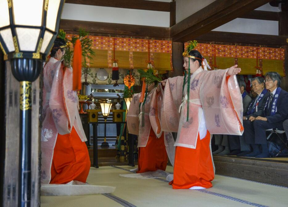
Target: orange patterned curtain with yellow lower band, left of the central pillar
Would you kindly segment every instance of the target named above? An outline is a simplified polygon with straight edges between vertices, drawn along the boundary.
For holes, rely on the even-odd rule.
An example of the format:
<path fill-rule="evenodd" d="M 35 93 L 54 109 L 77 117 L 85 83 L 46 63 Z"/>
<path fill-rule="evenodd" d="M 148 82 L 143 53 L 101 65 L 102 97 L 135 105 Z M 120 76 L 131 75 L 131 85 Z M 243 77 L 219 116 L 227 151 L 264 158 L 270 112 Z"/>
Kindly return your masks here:
<path fill-rule="evenodd" d="M 72 34 L 66 34 L 67 39 L 72 38 Z M 112 68 L 113 51 L 118 59 L 118 67 L 123 69 L 146 69 L 148 56 L 148 41 L 150 43 L 150 57 L 154 61 L 154 69 L 160 73 L 173 70 L 172 67 L 172 41 L 169 40 L 147 40 L 132 38 L 115 39 L 113 37 L 89 36 L 93 40 L 92 49 L 95 56 L 90 61 L 88 67 Z"/>

